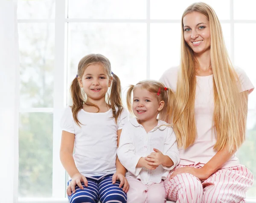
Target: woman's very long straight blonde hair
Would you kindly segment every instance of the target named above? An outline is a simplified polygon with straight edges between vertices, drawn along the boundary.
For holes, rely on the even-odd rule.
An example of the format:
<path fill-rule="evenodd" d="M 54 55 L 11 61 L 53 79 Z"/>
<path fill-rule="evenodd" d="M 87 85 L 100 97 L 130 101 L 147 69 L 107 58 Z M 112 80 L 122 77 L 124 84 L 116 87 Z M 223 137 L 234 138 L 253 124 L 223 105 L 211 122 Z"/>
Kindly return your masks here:
<path fill-rule="evenodd" d="M 188 148 L 195 142 L 195 64 L 194 52 L 184 40 L 183 18 L 190 12 L 204 14 L 210 26 L 210 57 L 213 72 L 215 136 L 214 149 L 227 147 L 237 150 L 245 139 L 247 118 L 247 92 L 239 93 L 239 78 L 234 70 L 224 44 L 221 24 L 214 10 L 206 3 L 194 3 L 182 15 L 181 62 L 177 80 L 174 130 L 177 144 Z M 240 85 L 241 86 L 241 85 Z"/>

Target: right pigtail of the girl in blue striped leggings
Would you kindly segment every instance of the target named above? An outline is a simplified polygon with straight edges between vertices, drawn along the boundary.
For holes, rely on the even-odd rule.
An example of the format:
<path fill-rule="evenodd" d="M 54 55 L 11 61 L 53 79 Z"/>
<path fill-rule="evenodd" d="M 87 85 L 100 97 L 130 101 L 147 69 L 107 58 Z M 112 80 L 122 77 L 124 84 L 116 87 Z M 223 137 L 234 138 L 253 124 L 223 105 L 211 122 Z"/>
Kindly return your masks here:
<path fill-rule="evenodd" d="M 115 118 L 115 122 L 117 123 L 117 119 L 121 115 L 123 111 L 122 104 L 122 92 L 121 92 L 121 81 L 117 75 L 113 74 L 113 81 L 110 96 L 108 97 L 108 104 L 111 106 L 113 117 Z M 116 112 L 116 107 L 118 108 Z"/>

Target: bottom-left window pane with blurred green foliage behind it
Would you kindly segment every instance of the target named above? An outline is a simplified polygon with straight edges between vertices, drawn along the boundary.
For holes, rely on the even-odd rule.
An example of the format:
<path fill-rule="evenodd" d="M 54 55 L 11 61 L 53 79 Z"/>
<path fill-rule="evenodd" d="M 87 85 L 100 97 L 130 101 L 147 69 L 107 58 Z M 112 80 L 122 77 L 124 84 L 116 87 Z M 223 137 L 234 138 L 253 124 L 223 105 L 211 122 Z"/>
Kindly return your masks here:
<path fill-rule="evenodd" d="M 52 197 L 52 123 L 52 113 L 20 113 L 20 197 Z"/>

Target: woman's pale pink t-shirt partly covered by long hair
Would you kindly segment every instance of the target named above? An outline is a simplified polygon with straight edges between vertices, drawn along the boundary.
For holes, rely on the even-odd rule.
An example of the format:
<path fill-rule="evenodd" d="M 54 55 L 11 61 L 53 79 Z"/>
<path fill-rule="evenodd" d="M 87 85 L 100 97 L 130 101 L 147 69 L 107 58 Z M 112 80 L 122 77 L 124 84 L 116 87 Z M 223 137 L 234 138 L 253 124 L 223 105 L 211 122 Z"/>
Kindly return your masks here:
<path fill-rule="evenodd" d="M 235 68 L 241 82 L 241 92 L 249 90 L 251 93 L 254 89 L 253 84 L 247 77 L 244 70 Z M 173 67 L 165 71 L 160 81 L 176 91 L 177 75 L 179 67 Z M 216 153 L 213 149 L 216 143 L 215 132 L 213 131 L 213 75 L 196 76 L 197 85 L 195 92 L 195 120 L 197 128 L 197 138 L 195 143 L 186 150 L 180 149 L 180 165 L 206 164 Z M 234 154 L 221 168 L 239 165 L 239 159 Z"/>

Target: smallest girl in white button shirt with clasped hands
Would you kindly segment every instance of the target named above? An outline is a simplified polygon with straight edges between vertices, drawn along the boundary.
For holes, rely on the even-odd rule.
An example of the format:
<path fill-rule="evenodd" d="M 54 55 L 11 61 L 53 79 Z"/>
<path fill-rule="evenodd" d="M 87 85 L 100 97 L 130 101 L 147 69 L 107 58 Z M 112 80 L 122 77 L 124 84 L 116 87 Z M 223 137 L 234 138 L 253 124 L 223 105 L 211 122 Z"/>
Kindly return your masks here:
<path fill-rule="evenodd" d="M 131 93 L 133 103 L 131 104 Z M 174 104 L 172 90 L 157 81 L 131 85 L 127 93 L 128 110 L 136 116 L 126 122 L 117 154 L 128 170 L 128 203 L 164 203 L 163 180 L 180 161 L 176 136 L 164 121 Z"/>

